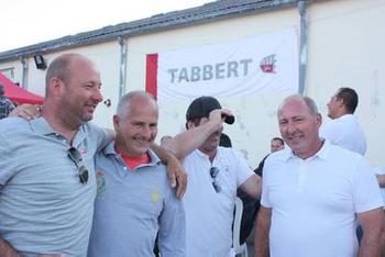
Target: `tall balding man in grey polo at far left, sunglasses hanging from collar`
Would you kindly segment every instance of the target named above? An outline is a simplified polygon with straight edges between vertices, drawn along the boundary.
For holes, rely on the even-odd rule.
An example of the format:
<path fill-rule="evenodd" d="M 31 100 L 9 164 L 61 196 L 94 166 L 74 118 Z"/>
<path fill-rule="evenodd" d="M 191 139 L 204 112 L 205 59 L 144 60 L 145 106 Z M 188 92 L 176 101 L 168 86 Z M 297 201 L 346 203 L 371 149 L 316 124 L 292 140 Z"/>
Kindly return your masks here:
<path fill-rule="evenodd" d="M 0 256 L 87 255 L 94 157 L 112 139 L 89 123 L 100 86 L 89 59 L 62 55 L 47 69 L 41 118 L 0 121 Z"/>

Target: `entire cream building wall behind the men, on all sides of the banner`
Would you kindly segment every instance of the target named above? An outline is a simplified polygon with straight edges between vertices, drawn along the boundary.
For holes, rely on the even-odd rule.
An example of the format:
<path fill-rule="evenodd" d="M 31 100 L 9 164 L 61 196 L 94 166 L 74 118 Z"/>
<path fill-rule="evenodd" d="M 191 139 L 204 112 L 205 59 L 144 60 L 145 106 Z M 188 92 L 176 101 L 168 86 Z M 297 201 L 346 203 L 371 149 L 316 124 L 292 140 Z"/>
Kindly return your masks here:
<path fill-rule="evenodd" d="M 314 98 L 328 122 L 326 103 L 339 87 L 352 87 L 360 96 L 356 115 L 367 137 L 367 153 L 372 166 L 384 165 L 382 146 L 385 144 L 385 0 L 334 0 L 311 3 L 308 7 L 309 38 L 305 93 Z M 183 49 L 207 44 L 257 36 L 294 27 L 299 42 L 297 9 L 268 11 L 232 18 L 218 22 L 162 31 L 125 40 L 125 90 L 145 88 L 146 54 Z M 118 41 L 73 48 L 91 58 L 101 70 L 105 99 L 111 107 L 100 104 L 95 122 L 112 127 L 112 114 L 119 98 L 120 48 Z M 57 52 L 44 55 L 50 63 Z M 0 69 L 15 67 L 15 81 L 21 81 L 20 62 L 0 64 Z M 29 59 L 29 90 L 44 94 L 44 71 L 36 70 Z M 220 99 L 237 116 L 234 125 L 224 125 L 233 146 L 248 158 L 251 167 L 270 150 L 270 139 L 279 135 L 276 109 L 284 96 L 248 96 Z M 187 102 L 161 105 L 161 136 L 175 135 L 184 130 Z"/>

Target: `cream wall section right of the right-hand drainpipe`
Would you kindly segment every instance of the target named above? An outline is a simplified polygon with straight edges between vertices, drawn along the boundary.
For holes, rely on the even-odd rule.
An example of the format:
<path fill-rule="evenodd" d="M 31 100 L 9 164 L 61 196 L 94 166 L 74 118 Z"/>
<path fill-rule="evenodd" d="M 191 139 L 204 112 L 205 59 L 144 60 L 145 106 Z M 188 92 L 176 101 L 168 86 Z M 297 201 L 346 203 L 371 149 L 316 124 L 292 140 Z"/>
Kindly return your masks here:
<path fill-rule="evenodd" d="M 372 166 L 385 164 L 385 1 L 324 1 L 309 8 L 306 94 L 328 122 L 327 102 L 340 87 L 354 88 L 356 115 L 367 138 Z"/>

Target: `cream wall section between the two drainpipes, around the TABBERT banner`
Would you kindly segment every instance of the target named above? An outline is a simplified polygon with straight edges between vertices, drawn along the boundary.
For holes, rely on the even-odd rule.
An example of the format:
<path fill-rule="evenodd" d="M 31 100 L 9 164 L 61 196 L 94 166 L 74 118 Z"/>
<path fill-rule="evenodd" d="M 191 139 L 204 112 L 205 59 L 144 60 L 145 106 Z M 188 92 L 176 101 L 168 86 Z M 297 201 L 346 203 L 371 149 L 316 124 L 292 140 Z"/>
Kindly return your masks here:
<path fill-rule="evenodd" d="M 298 11 L 287 9 L 130 38 L 128 89 L 144 89 L 146 54 L 223 43 L 288 27 L 298 31 Z M 270 139 L 279 135 L 275 111 L 282 99 L 283 96 L 220 99 L 223 108 L 230 109 L 237 116 L 235 124 L 224 125 L 223 132 L 229 134 L 233 146 L 245 155 L 253 168 L 270 150 Z M 158 139 L 163 135 L 175 135 L 185 130 L 188 104 L 183 101 L 161 104 Z"/>

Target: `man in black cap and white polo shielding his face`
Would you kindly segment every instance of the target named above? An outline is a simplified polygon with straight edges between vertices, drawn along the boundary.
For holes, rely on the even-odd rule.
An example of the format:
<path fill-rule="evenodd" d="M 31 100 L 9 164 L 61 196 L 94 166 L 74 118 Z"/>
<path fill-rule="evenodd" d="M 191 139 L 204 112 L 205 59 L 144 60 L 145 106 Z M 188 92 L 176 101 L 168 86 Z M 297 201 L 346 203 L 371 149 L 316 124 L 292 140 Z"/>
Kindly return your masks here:
<path fill-rule="evenodd" d="M 237 189 L 258 198 L 260 178 L 232 148 L 219 146 L 222 122 L 234 120 L 216 98 L 195 99 L 186 120 L 187 131 L 162 144 L 183 161 L 188 174 L 186 256 L 229 256 Z"/>

